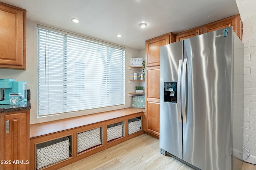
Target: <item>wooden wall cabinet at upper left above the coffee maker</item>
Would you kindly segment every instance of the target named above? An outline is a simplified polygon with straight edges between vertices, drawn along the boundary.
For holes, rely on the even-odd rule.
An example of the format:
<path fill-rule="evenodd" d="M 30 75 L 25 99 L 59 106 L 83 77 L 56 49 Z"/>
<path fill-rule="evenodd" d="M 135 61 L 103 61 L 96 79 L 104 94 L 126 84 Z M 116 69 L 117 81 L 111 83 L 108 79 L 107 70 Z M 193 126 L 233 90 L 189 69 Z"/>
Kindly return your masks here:
<path fill-rule="evenodd" d="M 26 69 L 26 10 L 0 2 L 0 68 Z"/>

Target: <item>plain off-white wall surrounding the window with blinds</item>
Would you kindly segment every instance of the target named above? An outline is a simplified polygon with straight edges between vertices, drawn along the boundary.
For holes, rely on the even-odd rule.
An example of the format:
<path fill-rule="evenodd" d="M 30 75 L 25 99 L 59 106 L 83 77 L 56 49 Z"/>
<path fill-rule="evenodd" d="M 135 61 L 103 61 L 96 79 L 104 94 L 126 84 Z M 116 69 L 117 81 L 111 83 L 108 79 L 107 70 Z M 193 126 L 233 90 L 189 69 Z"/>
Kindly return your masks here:
<path fill-rule="evenodd" d="M 46 25 L 47 26 L 47 25 Z M 79 115 L 86 115 L 90 113 L 109 111 L 114 109 L 122 109 L 131 106 L 131 97 L 128 96 L 129 92 L 134 92 L 134 84 L 130 84 L 128 79 L 132 79 L 132 71 L 128 70 L 130 61 L 132 57 L 140 57 L 140 51 L 126 48 L 126 97 L 125 105 L 122 106 L 113 106 L 113 107 L 104 107 L 100 109 L 90 109 L 86 111 L 77 111 L 73 113 L 66 113 L 60 115 L 53 115 L 49 117 L 37 117 L 37 23 L 32 21 L 27 21 L 27 39 L 26 39 L 26 70 L 11 70 L 11 69 L 0 69 L 0 78 L 13 78 L 16 81 L 27 81 L 28 89 L 31 91 L 31 106 L 30 110 L 30 124 L 40 123 L 45 121 L 51 121 L 56 119 L 63 119 L 67 117 L 74 117 Z M 118 97 L 118 96 L 117 96 Z"/>

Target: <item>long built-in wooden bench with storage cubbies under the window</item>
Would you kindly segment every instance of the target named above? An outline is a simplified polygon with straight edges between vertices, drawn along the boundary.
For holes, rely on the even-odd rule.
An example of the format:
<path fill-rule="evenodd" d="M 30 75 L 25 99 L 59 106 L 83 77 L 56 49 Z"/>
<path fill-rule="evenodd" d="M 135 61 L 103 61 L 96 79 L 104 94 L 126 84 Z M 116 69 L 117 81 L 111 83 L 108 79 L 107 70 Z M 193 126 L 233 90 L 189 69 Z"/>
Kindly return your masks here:
<path fill-rule="evenodd" d="M 55 139 L 68 137 L 70 156 L 65 160 L 40 168 L 40 170 L 53 170 L 141 135 L 144 133 L 142 131 L 142 124 L 139 131 L 128 134 L 128 120 L 130 122 L 132 119 L 138 118 L 142 123 L 144 111 L 145 109 L 140 108 L 125 108 L 30 125 L 30 169 L 36 170 L 36 146 L 38 144 L 42 145 Z M 121 136 L 107 142 L 107 127 L 109 128 L 117 123 L 119 125 L 122 124 L 123 127 Z M 78 152 L 78 133 L 98 128 L 100 128 L 101 144 L 86 149 L 83 152 Z"/>

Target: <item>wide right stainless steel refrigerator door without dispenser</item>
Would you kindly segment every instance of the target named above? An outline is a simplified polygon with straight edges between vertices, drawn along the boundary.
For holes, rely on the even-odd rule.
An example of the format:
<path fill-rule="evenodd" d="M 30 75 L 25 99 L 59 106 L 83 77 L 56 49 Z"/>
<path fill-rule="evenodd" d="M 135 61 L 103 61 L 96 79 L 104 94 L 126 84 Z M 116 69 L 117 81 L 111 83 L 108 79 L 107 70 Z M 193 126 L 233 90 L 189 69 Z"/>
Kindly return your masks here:
<path fill-rule="evenodd" d="M 186 123 L 183 160 L 202 170 L 231 169 L 232 28 L 184 40 Z"/>

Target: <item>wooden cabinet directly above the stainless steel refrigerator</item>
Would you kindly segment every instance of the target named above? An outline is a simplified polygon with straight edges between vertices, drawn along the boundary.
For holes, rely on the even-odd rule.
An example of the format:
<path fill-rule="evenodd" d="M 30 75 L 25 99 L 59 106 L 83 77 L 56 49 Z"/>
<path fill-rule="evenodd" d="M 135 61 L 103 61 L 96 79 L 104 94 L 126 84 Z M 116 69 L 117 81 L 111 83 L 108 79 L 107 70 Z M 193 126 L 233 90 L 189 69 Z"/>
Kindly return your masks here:
<path fill-rule="evenodd" d="M 176 41 L 180 41 L 186 38 L 194 37 L 199 34 L 208 33 L 211 31 L 215 31 L 215 30 L 230 27 L 230 26 L 233 26 L 235 33 L 242 40 L 242 21 L 240 19 L 240 15 L 238 14 L 235 16 L 225 18 L 223 20 L 215 21 L 212 23 L 208 23 L 206 25 L 202 25 L 200 27 L 183 31 L 181 33 L 177 33 Z"/>

